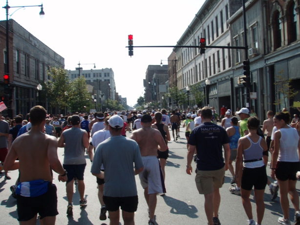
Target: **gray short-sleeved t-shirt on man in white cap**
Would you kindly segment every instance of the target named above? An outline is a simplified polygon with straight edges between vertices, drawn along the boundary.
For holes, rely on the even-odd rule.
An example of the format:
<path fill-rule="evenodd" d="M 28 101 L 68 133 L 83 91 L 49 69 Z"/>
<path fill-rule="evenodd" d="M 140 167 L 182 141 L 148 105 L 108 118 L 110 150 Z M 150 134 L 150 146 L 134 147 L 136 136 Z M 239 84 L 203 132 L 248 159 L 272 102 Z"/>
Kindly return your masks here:
<path fill-rule="evenodd" d="M 143 167 L 138 144 L 123 136 L 110 137 L 96 148 L 91 173 L 99 174 L 101 164 L 105 169 L 104 196 L 136 196 L 133 168 Z M 134 164 L 134 165 L 133 165 Z"/>

